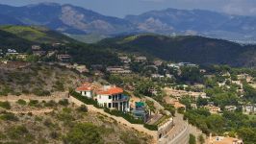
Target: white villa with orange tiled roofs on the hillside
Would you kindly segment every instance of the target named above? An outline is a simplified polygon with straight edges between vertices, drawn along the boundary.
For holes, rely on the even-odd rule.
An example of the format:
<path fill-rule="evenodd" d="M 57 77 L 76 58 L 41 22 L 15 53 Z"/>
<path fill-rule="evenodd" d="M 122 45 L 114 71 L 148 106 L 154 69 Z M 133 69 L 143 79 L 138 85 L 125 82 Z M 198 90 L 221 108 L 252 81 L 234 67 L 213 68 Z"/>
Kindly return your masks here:
<path fill-rule="evenodd" d="M 123 89 L 120 87 L 114 85 L 96 87 L 90 84 L 83 84 L 76 88 L 76 92 L 96 100 L 101 107 L 130 111 L 130 98 L 123 94 Z"/>

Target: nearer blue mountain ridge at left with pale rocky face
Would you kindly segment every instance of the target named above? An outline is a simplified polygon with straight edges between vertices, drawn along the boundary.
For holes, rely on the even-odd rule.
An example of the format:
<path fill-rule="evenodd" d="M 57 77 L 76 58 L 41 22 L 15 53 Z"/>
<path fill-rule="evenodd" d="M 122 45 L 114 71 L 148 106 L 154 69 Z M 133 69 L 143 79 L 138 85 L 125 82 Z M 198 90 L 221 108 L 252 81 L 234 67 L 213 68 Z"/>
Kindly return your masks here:
<path fill-rule="evenodd" d="M 124 19 L 104 16 L 68 4 L 40 3 L 24 7 L 0 5 L 0 14 L 19 20 L 19 23 L 13 22 L 13 25 L 43 25 L 69 34 L 116 34 L 130 30 L 130 23 Z"/>

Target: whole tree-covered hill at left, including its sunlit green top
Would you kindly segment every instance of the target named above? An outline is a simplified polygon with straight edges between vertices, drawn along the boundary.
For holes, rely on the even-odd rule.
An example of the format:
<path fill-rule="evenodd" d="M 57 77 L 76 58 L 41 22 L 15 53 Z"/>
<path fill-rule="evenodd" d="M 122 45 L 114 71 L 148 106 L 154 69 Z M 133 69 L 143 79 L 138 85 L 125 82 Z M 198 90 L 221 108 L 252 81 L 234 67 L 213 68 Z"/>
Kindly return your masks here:
<path fill-rule="evenodd" d="M 63 45 L 53 47 L 52 43 Z M 115 65 L 119 60 L 115 53 L 98 49 L 97 45 L 78 42 L 61 33 L 44 27 L 32 26 L 0 26 L 0 49 L 15 49 L 19 53 L 32 54 L 32 45 L 41 46 L 42 51 L 57 50 L 59 54 L 69 54 L 73 62 L 91 64 Z"/>

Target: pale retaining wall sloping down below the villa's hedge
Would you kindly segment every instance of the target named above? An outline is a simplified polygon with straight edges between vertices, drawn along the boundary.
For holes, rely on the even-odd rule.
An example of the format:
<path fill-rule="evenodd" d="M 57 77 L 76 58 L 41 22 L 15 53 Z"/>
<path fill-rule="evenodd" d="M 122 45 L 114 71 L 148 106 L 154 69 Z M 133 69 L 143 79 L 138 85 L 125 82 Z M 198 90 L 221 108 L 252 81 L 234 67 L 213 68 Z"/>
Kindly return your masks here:
<path fill-rule="evenodd" d="M 70 97 L 69 98 L 69 102 L 72 102 L 74 103 L 75 105 L 77 106 L 82 106 L 82 105 L 85 105 L 83 102 L 73 98 L 73 97 Z M 150 131 L 150 130 L 147 130 L 145 129 L 142 125 L 138 125 L 138 124 L 131 124 L 130 122 L 128 122 L 127 120 L 123 119 L 122 117 L 117 117 L 117 116 L 114 116 L 114 115 L 111 115 L 107 112 L 105 112 L 103 109 L 101 108 L 95 108 L 93 107 L 92 105 L 86 105 L 88 107 L 88 109 L 90 111 L 93 111 L 93 112 L 98 112 L 98 113 L 101 113 L 101 114 L 104 114 L 104 115 L 107 115 L 108 117 L 111 117 L 111 118 L 114 118 L 118 123 L 121 123 L 125 126 L 128 126 L 132 129 L 135 129 L 139 132 L 144 132 L 144 133 L 147 133 L 149 135 L 151 135 L 154 139 L 154 142 L 153 143 L 157 143 L 157 132 L 156 131 Z"/>

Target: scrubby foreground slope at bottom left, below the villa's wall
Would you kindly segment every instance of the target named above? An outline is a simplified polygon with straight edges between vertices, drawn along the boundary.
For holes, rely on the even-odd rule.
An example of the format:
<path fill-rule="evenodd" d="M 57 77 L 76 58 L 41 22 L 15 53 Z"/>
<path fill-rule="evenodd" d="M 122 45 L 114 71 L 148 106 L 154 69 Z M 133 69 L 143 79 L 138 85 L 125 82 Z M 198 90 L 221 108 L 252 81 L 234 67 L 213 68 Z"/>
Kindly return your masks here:
<path fill-rule="evenodd" d="M 151 138 L 141 132 L 118 124 L 115 119 L 90 112 L 88 108 L 75 107 L 68 101 L 29 102 L 18 100 L 9 104 L 8 110 L 30 109 L 39 111 L 52 109 L 52 112 L 12 113 L 0 107 L 1 143 L 64 143 L 102 144 L 150 143 Z"/>

